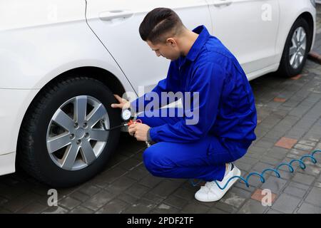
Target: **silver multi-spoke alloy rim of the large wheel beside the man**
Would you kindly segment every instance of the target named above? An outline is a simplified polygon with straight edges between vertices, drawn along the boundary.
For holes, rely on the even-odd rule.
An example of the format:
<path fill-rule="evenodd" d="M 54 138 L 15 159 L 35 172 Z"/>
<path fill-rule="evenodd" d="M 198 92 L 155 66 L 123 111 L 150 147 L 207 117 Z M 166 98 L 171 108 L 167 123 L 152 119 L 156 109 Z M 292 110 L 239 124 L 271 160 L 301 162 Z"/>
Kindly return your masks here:
<path fill-rule="evenodd" d="M 63 170 L 81 170 L 95 162 L 109 135 L 100 120 L 110 127 L 107 110 L 96 98 L 78 95 L 63 103 L 47 128 L 51 160 Z"/>

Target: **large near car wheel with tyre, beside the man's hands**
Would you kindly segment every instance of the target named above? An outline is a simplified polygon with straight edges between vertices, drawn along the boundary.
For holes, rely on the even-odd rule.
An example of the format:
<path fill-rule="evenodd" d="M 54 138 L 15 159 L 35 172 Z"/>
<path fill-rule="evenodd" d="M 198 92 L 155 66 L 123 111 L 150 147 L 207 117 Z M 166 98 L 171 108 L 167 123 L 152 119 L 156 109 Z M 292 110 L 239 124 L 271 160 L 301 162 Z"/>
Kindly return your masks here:
<path fill-rule="evenodd" d="M 120 110 L 113 93 L 93 78 L 75 77 L 41 90 L 24 118 L 17 157 L 21 167 L 41 182 L 71 187 L 105 167 L 116 149 Z"/>

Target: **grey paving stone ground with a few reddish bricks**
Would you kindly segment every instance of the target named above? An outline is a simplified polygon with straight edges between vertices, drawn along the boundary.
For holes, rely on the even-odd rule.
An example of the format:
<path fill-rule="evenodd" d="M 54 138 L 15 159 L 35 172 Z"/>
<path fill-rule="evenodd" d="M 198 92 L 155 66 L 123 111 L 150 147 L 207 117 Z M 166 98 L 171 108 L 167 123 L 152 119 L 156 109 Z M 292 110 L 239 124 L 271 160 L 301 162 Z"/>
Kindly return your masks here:
<path fill-rule="evenodd" d="M 320 6 L 319 11 L 320 11 Z M 320 11 L 321 12 L 321 11 Z M 314 51 L 321 53 L 321 16 Z M 250 82 L 258 110 L 257 140 L 235 162 L 243 176 L 321 150 L 321 65 L 307 61 L 300 76 L 267 75 Z M 194 199 L 188 180 L 153 177 L 142 162 L 145 145 L 121 135 L 106 169 L 83 185 L 58 189 L 58 205 L 49 207 L 50 187 L 21 170 L 0 177 L 0 213 L 321 213 L 321 154 L 305 170 L 280 169 L 281 178 L 266 172 L 263 184 L 251 177 L 238 182 L 219 202 Z M 263 206 L 262 191 L 272 193 Z"/>

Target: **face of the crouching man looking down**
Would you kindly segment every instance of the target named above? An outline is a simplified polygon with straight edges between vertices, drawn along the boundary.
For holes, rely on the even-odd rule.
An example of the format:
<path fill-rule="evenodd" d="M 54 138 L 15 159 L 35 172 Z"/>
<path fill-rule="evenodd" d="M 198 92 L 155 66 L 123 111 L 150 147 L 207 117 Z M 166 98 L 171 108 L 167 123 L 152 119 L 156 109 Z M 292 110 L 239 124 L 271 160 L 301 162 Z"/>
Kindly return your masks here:
<path fill-rule="evenodd" d="M 151 43 L 147 41 L 148 46 L 155 51 L 156 56 L 163 56 L 170 60 L 176 60 L 180 57 L 180 50 L 174 38 L 167 38 L 165 43 Z"/>

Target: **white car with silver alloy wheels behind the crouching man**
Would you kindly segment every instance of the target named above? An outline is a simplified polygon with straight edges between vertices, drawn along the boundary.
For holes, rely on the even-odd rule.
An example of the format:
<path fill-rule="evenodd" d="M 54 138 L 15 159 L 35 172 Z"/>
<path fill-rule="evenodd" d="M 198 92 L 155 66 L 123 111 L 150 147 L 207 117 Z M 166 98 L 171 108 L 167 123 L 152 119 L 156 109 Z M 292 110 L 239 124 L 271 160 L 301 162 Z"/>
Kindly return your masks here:
<path fill-rule="evenodd" d="M 169 61 L 138 27 L 156 7 L 201 24 L 234 53 L 248 79 L 302 71 L 315 38 L 313 0 L 8 0 L 0 2 L 0 175 L 21 165 L 54 187 L 104 168 L 121 123 L 113 93 L 151 90 Z"/>

